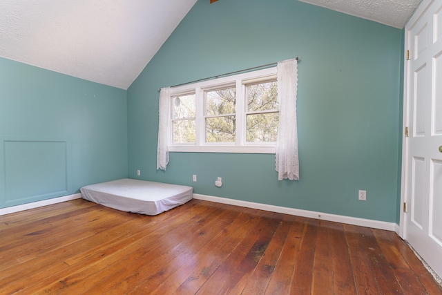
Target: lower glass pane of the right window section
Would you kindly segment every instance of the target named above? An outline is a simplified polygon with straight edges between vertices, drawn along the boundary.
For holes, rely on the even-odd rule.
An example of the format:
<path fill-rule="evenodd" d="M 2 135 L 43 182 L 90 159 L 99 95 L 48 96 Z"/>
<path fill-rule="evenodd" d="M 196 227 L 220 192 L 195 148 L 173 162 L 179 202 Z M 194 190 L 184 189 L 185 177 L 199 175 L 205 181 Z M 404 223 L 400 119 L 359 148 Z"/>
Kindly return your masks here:
<path fill-rule="evenodd" d="M 279 113 L 247 115 L 247 142 L 276 142 Z"/>

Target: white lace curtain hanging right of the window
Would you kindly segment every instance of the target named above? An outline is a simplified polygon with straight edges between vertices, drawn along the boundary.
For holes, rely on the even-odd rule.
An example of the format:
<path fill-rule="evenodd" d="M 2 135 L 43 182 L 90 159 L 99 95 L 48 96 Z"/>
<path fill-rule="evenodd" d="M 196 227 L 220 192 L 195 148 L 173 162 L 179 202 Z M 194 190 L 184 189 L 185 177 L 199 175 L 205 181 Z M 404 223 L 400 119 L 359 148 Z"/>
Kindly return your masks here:
<path fill-rule="evenodd" d="M 296 93 L 298 92 L 298 61 L 278 62 L 278 101 L 280 119 L 276 140 L 276 171 L 278 180 L 299 180 L 298 131 L 296 127 Z"/>

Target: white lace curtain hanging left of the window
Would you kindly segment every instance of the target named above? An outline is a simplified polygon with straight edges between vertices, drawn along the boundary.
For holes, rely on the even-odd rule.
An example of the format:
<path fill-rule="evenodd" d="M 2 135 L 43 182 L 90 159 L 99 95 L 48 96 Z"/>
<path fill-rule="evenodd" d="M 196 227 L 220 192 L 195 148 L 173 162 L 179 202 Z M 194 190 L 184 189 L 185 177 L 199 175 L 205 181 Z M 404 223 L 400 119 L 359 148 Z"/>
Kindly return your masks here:
<path fill-rule="evenodd" d="M 161 88 L 158 120 L 157 169 L 166 170 L 169 163 L 169 124 L 171 124 L 171 88 Z"/>

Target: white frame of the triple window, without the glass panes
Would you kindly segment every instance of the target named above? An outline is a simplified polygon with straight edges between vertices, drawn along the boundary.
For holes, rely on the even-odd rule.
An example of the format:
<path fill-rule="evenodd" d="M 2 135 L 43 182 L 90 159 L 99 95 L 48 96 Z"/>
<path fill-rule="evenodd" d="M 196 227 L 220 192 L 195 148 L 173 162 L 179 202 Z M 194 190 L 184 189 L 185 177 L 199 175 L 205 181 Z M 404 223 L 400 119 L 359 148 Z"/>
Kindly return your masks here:
<path fill-rule="evenodd" d="M 195 143 L 173 143 L 173 124 L 169 124 L 170 152 L 198 153 L 276 153 L 276 142 L 247 142 L 246 141 L 246 86 L 257 82 L 276 81 L 277 67 L 255 70 L 253 72 L 231 75 L 204 82 L 196 82 L 171 88 L 171 117 L 173 120 L 173 97 L 195 93 L 196 99 L 196 140 Z M 205 142 L 206 126 L 204 121 L 204 91 L 236 86 L 236 142 L 219 143 Z"/>

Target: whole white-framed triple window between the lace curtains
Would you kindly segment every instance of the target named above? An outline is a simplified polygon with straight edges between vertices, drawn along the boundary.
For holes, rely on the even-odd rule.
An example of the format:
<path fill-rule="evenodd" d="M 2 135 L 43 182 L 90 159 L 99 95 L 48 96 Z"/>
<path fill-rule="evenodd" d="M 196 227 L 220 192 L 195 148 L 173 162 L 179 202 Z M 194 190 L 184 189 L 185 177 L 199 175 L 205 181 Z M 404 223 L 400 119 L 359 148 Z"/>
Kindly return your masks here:
<path fill-rule="evenodd" d="M 275 153 L 276 67 L 171 88 L 169 151 Z"/>

